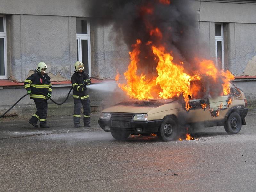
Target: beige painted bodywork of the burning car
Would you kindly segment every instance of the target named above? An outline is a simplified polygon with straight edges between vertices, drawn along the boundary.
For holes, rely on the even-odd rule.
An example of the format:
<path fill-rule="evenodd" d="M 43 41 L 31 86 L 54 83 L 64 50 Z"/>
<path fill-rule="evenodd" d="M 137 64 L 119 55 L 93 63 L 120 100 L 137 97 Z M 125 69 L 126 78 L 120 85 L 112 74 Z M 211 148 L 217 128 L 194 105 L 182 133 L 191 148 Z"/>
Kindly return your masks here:
<path fill-rule="evenodd" d="M 232 98 L 232 104 L 228 105 L 227 101 L 230 97 Z M 205 109 L 198 107 L 196 109 L 190 109 L 189 111 L 186 111 L 179 100 L 159 99 L 159 102 L 167 103 L 155 107 L 117 104 L 115 106 L 104 109 L 102 112 L 147 113 L 147 121 L 159 120 L 168 115 L 175 115 L 176 117 L 184 117 L 184 121 L 187 123 L 207 122 L 224 119 L 229 108 L 235 106 L 245 107 L 244 99 L 244 93 L 241 91 L 240 96 L 224 95 L 216 98 L 209 98 L 209 106 L 207 106 Z M 134 102 L 136 102 L 136 100 L 134 100 Z M 211 111 L 219 111 L 219 115 L 212 116 Z"/>

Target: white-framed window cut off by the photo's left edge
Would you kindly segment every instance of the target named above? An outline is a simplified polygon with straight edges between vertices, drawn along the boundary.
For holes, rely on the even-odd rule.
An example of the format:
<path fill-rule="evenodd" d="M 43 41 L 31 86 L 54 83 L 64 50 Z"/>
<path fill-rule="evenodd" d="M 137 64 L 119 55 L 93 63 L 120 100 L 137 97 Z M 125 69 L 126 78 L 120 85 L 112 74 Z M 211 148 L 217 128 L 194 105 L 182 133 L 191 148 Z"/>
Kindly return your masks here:
<path fill-rule="evenodd" d="M 0 79 L 7 79 L 6 20 L 0 15 Z"/>

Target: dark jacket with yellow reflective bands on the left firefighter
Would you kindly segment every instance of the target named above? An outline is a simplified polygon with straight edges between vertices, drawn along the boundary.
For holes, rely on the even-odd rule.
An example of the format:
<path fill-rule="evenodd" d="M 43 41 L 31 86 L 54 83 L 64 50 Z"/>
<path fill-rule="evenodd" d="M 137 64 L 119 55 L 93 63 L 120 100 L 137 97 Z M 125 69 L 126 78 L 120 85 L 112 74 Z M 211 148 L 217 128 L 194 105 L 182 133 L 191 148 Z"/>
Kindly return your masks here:
<path fill-rule="evenodd" d="M 46 96 L 40 93 L 33 93 L 33 92 L 42 92 L 45 95 L 48 93 L 52 94 L 52 84 L 50 81 L 50 77 L 47 74 L 44 76 L 36 72 L 29 76 L 25 82 L 24 86 L 27 91 L 31 91 L 32 94 L 30 95 L 30 99 L 39 99 L 39 100 L 47 100 Z"/>

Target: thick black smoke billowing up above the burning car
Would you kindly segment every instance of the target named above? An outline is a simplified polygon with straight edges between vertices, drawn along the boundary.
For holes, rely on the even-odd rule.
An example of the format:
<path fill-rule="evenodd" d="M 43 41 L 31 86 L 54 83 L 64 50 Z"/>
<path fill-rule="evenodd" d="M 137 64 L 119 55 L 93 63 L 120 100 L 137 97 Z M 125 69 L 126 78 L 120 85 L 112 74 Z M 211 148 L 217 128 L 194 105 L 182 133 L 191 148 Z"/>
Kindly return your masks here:
<path fill-rule="evenodd" d="M 189 2 L 171 0 L 170 4 L 163 4 L 159 0 L 92 0 L 89 10 L 95 22 L 104 18 L 104 24 L 113 25 L 116 44 L 122 39 L 132 50 L 131 45 L 140 39 L 140 65 L 152 73 L 157 63 L 151 47 L 146 45 L 148 41 L 155 46 L 164 45 L 166 51 L 172 51 L 175 63 L 183 61 L 189 67 L 189 63 L 193 62 L 197 15 L 191 11 Z M 146 9 L 153 10 L 152 14 L 147 14 Z M 147 26 L 151 29 L 158 27 L 163 37 L 151 36 Z"/>

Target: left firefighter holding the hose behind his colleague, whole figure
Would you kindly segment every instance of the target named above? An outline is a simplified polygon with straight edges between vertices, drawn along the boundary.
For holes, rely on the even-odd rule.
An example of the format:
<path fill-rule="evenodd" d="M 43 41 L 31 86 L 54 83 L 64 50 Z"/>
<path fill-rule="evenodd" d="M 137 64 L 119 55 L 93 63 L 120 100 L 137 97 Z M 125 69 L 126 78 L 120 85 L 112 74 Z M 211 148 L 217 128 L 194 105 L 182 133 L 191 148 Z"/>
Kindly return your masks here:
<path fill-rule="evenodd" d="M 46 73 L 47 65 L 44 62 L 40 62 L 37 65 L 35 73 L 29 76 L 25 82 L 25 89 L 27 90 L 30 99 L 33 99 L 36 104 L 36 113 L 29 119 L 29 123 L 34 127 L 38 127 L 37 122 L 40 122 L 40 128 L 49 128 L 47 125 L 47 100 L 52 95 L 52 84 L 50 77 Z M 44 93 L 45 95 L 41 94 Z"/>

